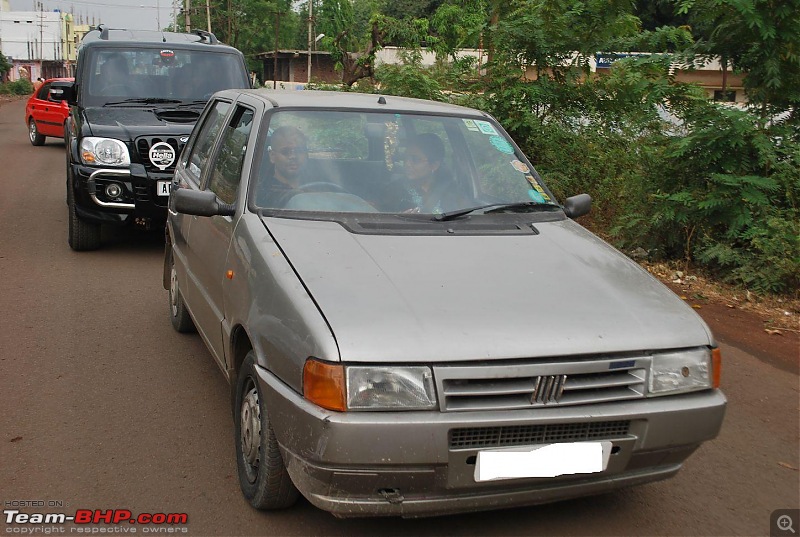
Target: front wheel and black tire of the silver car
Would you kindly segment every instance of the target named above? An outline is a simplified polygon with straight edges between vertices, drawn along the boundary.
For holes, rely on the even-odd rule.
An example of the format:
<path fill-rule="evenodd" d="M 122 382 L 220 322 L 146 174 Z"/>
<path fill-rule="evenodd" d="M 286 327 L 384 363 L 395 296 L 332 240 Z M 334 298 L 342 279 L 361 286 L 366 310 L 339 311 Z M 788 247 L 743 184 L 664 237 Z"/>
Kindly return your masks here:
<path fill-rule="evenodd" d="M 281 457 L 258 385 L 255 354 L 247 353 L 236 378 L 236 466 L 242 494 L 256 509 L 286 509 L 300 496 Z"/>

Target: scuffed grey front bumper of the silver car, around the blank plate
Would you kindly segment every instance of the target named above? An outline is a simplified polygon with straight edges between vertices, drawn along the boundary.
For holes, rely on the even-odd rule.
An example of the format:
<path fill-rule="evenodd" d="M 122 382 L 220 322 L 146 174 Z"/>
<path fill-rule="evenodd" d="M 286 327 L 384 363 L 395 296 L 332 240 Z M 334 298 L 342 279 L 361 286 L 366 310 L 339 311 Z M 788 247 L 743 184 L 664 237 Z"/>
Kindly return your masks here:
<path fill-rule="evenodd" d="M 671 477 L 720 430 L 718 391 L 636 401 L 503 412 L 330 412 L 258 368 L 270 420 L 292 481 L 336 516 L 429 516 L 547 503 Z M 476 482 L 479 450 L 453 442 L 506 431 L 547 431 L 545 442 L 610 440 L 605 471 Z M 459 437 L 461 438 L 461 437 Z M 526 443 L 527 442 L 527 443 Z M 504 447 L 508 447 L 505 444 Z"/>

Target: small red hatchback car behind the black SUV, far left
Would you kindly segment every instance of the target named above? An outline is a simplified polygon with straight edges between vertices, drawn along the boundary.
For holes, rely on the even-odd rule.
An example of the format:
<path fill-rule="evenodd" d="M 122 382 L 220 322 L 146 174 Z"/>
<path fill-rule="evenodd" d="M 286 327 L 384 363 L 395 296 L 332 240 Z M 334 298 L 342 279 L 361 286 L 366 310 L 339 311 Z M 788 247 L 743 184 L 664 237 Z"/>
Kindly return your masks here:
<path fill-rule="evenodd" d="M 62 97 L 64 86 L 74 78 L 49 78 L 36 90 L 25 106 L 25 123 L 28 138 L 33 145 L 44 144 L 47 136 L 64 137 L 64 122 L 69 115 L 69 105 Z"/>

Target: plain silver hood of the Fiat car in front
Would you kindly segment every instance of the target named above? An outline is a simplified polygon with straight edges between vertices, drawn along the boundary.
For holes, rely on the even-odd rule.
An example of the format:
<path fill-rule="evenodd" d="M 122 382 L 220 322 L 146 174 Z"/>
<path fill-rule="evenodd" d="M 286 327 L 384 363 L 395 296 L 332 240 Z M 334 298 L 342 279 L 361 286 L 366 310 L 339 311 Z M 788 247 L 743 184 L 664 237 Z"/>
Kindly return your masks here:
<path fill-rule="evenodd" d="M 451 362 L 713 343 L 700 317 L 571 220 L 538 235 L 398 236 L 264 218 L 344 361 Z"/>

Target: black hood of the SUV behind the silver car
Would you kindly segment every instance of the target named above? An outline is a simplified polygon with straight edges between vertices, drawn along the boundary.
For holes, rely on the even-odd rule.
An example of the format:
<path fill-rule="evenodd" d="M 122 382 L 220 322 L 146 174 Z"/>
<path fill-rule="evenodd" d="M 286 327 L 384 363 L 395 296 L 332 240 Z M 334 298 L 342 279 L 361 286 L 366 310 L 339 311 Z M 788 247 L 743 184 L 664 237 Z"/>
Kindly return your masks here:
<path fill-rule="evenodd" d="M 84 122 L 93 136 L 130 141 L 138 136 L 188 135 L 197 121 L 196 110 L 175 110 L 159 107 L 104 107 L 87 108 Z M 178 118 L 180 121 L 175 121 Z"/>

